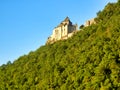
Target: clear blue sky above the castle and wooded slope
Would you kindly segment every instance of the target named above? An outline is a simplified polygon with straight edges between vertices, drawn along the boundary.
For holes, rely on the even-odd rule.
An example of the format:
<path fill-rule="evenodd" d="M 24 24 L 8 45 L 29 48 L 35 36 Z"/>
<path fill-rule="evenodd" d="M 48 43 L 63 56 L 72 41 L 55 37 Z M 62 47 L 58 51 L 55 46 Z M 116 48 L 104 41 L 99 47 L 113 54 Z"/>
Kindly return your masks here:
<path fill-rule="evenodd" d="M 44 45 L 66 16 L 78 25 L 116 0 L 0 0 L 0 65 Z"/>

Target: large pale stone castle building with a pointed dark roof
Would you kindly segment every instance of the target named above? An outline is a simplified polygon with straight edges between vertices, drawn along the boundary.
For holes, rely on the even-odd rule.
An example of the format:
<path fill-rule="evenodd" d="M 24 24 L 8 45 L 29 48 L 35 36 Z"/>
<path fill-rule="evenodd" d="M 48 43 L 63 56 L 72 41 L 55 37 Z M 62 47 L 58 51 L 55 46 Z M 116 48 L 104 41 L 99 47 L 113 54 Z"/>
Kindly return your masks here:
<path fill-rule="evenodd" d="M 54 28 L 52 35 L 48 38 L 47 43 L 53 43 L 58 40 L 64 40 L 73 35 L 77 30 L 77 25 L 73 25 L 69 17 L 66 17 L 57 27 Z"/>

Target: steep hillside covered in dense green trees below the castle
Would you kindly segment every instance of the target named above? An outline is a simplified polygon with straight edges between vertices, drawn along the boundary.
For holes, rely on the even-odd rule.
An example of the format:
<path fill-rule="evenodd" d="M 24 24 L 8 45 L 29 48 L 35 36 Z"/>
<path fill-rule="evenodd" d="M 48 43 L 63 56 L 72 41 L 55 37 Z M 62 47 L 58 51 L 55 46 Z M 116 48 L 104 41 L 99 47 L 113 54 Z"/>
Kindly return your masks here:
<path fill-rule="evenodd" d="M 0 67 L 0 90 L 120 90 L 120 0 L 97 24 Z"/>

